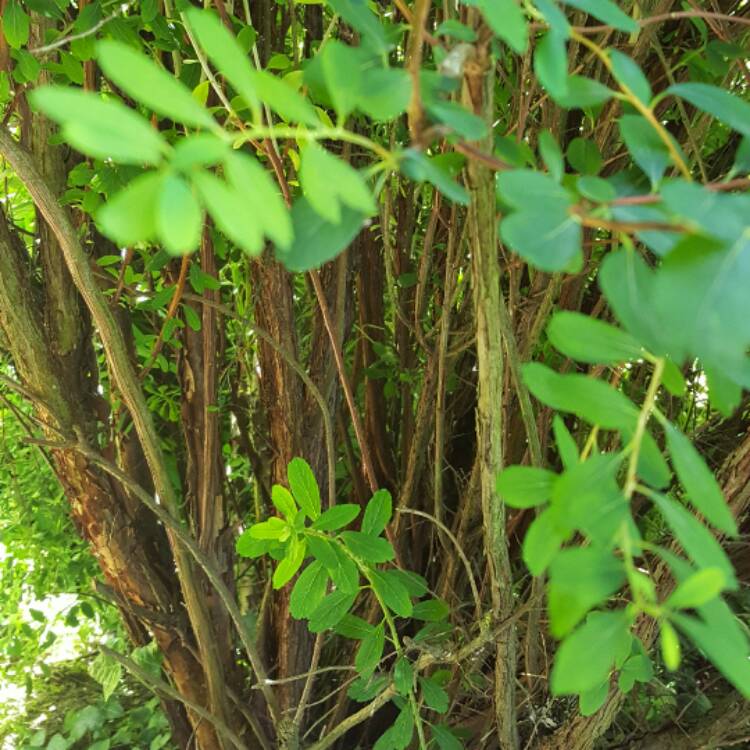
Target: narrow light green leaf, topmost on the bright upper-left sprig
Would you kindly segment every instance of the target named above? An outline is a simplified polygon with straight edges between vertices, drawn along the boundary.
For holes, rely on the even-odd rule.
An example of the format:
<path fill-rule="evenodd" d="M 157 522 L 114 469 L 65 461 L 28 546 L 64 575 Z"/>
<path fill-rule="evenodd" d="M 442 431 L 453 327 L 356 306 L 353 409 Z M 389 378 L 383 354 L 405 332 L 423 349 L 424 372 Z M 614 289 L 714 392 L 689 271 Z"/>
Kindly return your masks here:
<path fill-rule="evenodd" d="M 254 71 L 234 35 L 218 16 L 209 11 L 191 8 L 187 11 L 187 18 L 198 43 L 221 74 L 252 109 L 257 108 L 258 92 Z"/>

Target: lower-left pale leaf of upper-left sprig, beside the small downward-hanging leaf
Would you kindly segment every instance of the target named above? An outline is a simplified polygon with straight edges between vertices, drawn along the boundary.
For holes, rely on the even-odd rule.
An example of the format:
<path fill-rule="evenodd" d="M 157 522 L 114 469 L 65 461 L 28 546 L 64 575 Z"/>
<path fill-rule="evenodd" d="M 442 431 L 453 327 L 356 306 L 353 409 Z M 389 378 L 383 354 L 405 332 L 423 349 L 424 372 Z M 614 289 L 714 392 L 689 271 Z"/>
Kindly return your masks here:
<path fill-rule="evenodd" d="M 99 229 L 120 247 L 153 239 L 161 181 L 159 173 L 147 172 L 128 183 L 96 212 Z"/>

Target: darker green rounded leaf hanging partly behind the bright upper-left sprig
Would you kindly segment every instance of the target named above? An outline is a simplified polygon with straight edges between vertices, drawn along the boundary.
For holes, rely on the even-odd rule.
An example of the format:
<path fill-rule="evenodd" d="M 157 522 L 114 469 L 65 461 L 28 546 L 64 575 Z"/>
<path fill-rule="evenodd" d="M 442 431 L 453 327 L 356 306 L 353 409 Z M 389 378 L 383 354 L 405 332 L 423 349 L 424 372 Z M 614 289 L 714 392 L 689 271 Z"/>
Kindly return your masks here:
<path fill-rule="evenodd" d="M 300 198 L 292 206 L 294 241 L 277 258 L 290 271 L 309 271 L 333 260 L 359 234 L 366 220 L 359 211 L 344 207 L 341 221 L 326 221 L 307 201 Z"/>

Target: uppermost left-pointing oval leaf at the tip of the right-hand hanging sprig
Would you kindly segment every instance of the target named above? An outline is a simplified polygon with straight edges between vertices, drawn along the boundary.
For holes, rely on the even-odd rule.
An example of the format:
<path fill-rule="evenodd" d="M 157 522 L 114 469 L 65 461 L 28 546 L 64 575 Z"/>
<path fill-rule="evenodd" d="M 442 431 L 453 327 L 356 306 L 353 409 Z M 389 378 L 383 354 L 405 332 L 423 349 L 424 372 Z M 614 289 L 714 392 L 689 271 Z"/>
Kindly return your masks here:
<path fill-rule="evenodd" d="M 555 349 L 578 362 L 616 365 L 643 356 L 629 333 L 577 312 L 555 313 L 547 336 Z"/>

